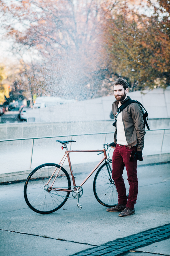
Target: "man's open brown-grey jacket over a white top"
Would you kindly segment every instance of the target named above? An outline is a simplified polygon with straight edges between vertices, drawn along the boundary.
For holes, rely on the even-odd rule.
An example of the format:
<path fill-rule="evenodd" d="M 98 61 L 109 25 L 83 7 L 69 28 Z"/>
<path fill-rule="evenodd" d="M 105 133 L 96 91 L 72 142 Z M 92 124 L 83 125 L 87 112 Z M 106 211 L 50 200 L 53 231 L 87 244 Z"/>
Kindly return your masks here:
<path fill-rule="evenodd" d="M 126 100 L 130 99 L 128 98 Z M 123 100 L 123 104 L 126 100 Z M 113 115 L 115 116 L 117 112 L 117 106 L 119 101 L 115 100 L 112 104 Z M 124 125 L 124 131 L 126 136 L 126 141 L 131 147 L 137 145 L 137 151 L 142 151 L 144 148 L 144 118 L 143 112 L 139 104 L 131 103 L 122 111 L 122 121 Z M 115 129 L 115 143 L 116 143 L 117 131 Z"/>

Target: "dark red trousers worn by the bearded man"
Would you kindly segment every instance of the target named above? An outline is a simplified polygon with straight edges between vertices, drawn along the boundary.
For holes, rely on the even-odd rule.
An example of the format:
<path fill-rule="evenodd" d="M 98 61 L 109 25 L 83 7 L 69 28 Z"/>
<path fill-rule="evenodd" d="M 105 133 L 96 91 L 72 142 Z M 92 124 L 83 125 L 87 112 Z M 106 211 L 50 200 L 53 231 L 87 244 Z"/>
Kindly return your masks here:
<path fill-rule="evenodd" d="M 112 178 L 115 181 L 115 186 L 118 193 L 118 203 L 126 204 L 129 208 L 134 208 L 137 200 L 138 181 L 137 181 L 137 159 L 132 162 L 129 161 L 130 154 L 134 150 L 137 151 L 137 147 L 132 148 L 126 146 L 116 145 L 112 157 Z M 126 188 L 122 177 L 124 167 L 128 174 L 129 182 L 129 196 L 126 196 Z"/>

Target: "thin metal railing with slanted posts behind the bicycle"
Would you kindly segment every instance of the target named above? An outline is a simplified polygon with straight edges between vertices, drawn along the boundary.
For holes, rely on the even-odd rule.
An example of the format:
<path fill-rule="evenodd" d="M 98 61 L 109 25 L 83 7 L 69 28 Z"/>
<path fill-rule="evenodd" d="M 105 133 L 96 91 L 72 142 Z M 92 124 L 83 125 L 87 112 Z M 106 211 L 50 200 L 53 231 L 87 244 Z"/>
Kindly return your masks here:
<path fill-rule="evenodd" d="M 152 130 L 146 131 L 146 132 L 164 131 L 164 132 L 163 132 L 163 136 L 162 136 L 162 143 L 161 143 L 161 150 L 160 150 L 160 152 L 162 152 L 162 146 L 163 146 L 164 135 L 165 135 L 165 131 L 166 131 L 166 130 L 170 130 L 170 128 L 152 129 Z M 106 142 L 106 136 L 107 136 L 107 134 L 111 134 L 111 133 L 115 133 L 115 132 L 95 132 L 95 133 L 84 133 L 84 134 L 69 134 L 69 135 L 57 135 L 57 136 L 45 136 L 45 137 L 18 138 L 18 139 L 0 140 L 0 142 L 4 142 L 4 141 L 13 141 L 13 140 L 32 140 L 31 159 L 30 159 L 30 168 L 31 168 L 31 165 L 32 165 L 32 158 L 33 158 L 33 145 L 34 145 L 34 140 L 37 140 L 37 139 L 48 139 L 48 138 L 61 138 L 61 137 L 71 137 L 70 140 L 72 140 L 73 136 L 85 136 L 85 135 L 105 134 L 105 139 L 104 139 L 104 143 L 105 143 L 105 142 Z M 70 143 L 70 149 L 69 149 L 69 150 L 71 150 L 71 143 Z"/>

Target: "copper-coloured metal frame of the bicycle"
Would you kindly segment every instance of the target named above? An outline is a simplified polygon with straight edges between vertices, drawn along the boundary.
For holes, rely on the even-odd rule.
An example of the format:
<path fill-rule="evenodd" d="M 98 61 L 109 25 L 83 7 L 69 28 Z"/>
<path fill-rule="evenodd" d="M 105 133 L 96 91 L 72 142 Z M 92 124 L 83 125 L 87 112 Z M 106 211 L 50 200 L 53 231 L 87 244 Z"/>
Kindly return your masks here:
<path fill-rule="evenodd" d="M 83 180 L 83 182 L 79 185 L 80 187 L 82 187 L 83 184 L 88 180 L 88 178 L 93 174 L 93 172 L 95 172 L 96 169 L 100 166 L 100 164 L 101 164 L 105 159 L 107 159 L 107 154 L 106 154 L 106 149 L 105 149 L 105 148 L 103 148 L 102 150 L 66 150 L 66 151 L 65 151 L 65 154 L 64 154 L 65 158 L 64 158 L 64 156 L 63 156 L 64 160 L 63 160 L 63 158 L 62 158 L 62 160 L 63 160 L 63 163 L 64 163 L 66 157 L 68 158 L 69 167 L 70 167 L 70 172 L 71 172 L 71 177 L 72 177 L 72 181 L 73 181 L 73 186 L 76 186 L 76 183 L 75 183 L 74 174 L 73 174 L 73 170 L 72 170 L 72 166 L 71 166 L 71 162 L 70 162 L 69 153 L 77 153 L 77 152 L 103 152 L 103 153 L 104 153 L 104 157 L 103 157 L 102 160 L 99 162 L 99 164 L 96 165 L 96 167 L 87 175 L 87 177 L 85 178 L 85 180 Z M 62 160 L 61 160 L 60 163 L 59 163 L 59 164 L 61 164 L 60 169 L 58 170 L 57 174 L 55 175 L 55 179 L 54 179 L 52 185 L 48 188 L 48 192 L 50 192 L 50 191 L 52 191 L 52 190 L 53 190 L 53 191 L 72 192 L 72 190 L 74 189 L 74 188 L 73 188 L 73 189 L 69 190 L 69 189 L 64 189 L 64 188 L 52 188 L 52 186 L 53 186 L 53 184 L 54 184 L 54 182 L 55 182 L 55 180 L 56 180 L 56 178 L 57 178 L 57 175 L 59 174 L 59 172 L 60 172 L 60 170 L 61 170 L 61 168 L 62 168 L 62 166 L 63 166 Z M 58 167 L 55 168 L 55 171 L 52 173 L 52 175 L 51 175 L 51 177 L 49 178 L 49 180 L 48 180 L 48 182 L 47 182 L 46 185 L 48 185 L 49 181 L 52 179 L 52 177 L 53 177 L 54 173 L 56 172 L 57 168 L 58 168 Z"/>

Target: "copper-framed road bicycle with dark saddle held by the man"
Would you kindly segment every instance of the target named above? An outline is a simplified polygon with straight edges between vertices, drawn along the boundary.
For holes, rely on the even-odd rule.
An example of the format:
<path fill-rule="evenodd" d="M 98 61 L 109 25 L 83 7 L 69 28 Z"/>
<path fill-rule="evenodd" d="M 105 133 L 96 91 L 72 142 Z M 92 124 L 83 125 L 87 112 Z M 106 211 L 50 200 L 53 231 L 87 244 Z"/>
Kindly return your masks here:
<path fill-rule="evenodd" d="M 115 187 L 115 182 L 112 180 L 112 169 L 110 163 L 112 160 L 109 155 L 107 158 L 106 151 L 110 147 L 109 144 L 103 144 L 102 150 L 68 150 L 67 144 L 76 142 L 75 140 L 56 140 L 61 143 L 62 149 L 65 148 L 65 154 L 59 164 L 41 164 L 36 167 L 27 177 L 24 185 L 24 198 L 26 204 L 37 213 L 48 214 L 60 209 L 67 201 L 70 195 L 71 198 L 77 198 L 77 206 L 82 209 L 79 203 L 79 198 L 83 195 L 83 184 L 88 180 L 93 172 L 100 166 L 93 181 L 93 192 L 98 202 L 107 207 L 114 207 L 118 204 L 118 194 Z M 105 148 L 105 146 L 107 148 Z M 74 152 L 100 152 L 97 155 L 104 153 L 102 160 L 88 174 L 85 180 L 78 186 L 75 183 L 73 174 L 70 153 Z M 65 159 L 68 158 L 70 173 L 63 168 Z M 62 162 L 63 161 L 63 162 Z M 73 186 L 71 186 L 71 180 Z"/>

